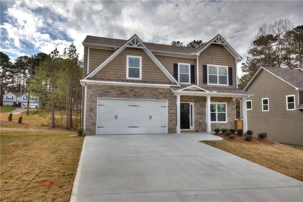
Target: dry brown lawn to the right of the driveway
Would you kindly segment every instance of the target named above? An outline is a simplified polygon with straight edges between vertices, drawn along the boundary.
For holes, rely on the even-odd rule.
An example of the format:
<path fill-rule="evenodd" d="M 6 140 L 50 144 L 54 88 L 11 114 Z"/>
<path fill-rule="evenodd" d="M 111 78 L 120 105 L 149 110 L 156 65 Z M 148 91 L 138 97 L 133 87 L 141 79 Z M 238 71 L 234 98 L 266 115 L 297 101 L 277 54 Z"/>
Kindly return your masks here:
<path fill-rule="evenodd" d="M 302 150 L 256 137 L 248 142 L 244 140 L 245 135 L 240 137 L 235 134 L 235 139 L 228 139 L 223 133 L 214 135 L 222 137 L 223 140 L 201 142 L 303 181 Z"/>

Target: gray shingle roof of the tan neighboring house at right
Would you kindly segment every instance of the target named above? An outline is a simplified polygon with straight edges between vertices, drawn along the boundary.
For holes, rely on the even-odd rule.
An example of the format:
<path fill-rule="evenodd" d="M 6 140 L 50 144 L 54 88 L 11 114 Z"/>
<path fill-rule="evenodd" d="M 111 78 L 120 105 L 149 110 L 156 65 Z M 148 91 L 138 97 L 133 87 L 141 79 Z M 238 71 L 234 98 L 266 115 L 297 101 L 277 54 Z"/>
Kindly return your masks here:
<path fill-rule="evenodd" d="M 270 71 L 272 74 L 280 77 L 286 82 L 297 88 L 303 88 L 303 71 L 297 69 L 286 69 L 277 67 L 263 67 Z"/>

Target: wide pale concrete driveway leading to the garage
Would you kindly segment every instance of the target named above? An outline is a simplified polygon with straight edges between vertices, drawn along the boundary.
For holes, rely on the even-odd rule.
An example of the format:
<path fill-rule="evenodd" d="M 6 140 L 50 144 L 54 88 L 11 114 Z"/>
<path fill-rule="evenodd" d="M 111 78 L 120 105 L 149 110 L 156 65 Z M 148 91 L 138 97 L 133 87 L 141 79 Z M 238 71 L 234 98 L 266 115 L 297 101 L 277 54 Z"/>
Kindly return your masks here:
<path fill-rule="evenodd" d="M 303 200 L 302 182 L 197 141 L 202 138 L 212 136 L 86 136 L 71 201 Z"/>

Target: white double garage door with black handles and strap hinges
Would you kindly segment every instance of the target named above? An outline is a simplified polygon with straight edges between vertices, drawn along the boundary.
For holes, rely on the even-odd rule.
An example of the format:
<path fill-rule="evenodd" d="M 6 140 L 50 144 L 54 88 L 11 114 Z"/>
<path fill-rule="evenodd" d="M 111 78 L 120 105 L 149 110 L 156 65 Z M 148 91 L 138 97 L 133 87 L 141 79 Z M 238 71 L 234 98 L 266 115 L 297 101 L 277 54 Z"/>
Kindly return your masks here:
<path fill-rule="evenodd" d="M 97 135 L 166 133 L 166 100 L 98 98 Z"/>

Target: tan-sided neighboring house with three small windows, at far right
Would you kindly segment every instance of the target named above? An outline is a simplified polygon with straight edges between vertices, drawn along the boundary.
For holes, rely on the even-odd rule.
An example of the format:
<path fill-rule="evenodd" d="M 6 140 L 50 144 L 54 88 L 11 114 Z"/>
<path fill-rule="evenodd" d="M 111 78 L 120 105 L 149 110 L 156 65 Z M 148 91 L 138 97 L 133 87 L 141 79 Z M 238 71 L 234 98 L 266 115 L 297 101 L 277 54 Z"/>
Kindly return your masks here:
<path fill-rule="evenodd" d="M 303 146 L 303 69 L 261 67 L 244 90 L 248 128 L 290 146 Z"/>

